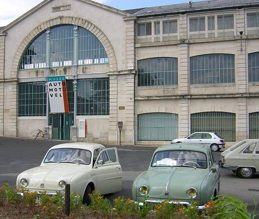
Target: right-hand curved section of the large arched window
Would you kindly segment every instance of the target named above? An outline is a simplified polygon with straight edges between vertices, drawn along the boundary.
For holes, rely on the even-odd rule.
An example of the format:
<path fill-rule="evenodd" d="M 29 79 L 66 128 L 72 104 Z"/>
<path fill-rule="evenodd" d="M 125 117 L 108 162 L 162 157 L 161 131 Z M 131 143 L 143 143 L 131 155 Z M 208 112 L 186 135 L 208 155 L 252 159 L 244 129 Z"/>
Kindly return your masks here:
<path fill-rule="evenodd" d="M 78 64 L 108 63 L 108 56 L 100 40 L 89 30 L 78 28 Z"/>

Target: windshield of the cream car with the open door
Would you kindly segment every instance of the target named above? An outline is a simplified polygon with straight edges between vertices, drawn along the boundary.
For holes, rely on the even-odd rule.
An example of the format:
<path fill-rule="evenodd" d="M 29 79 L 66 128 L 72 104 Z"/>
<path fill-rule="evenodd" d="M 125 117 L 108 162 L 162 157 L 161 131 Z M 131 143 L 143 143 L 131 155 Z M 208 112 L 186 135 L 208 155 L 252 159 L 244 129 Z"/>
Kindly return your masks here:
<path fill-rule="evenodd" d="M 44 163 L 91 163 L 91 152 L 76 148 L 58 148 L 50 150 L 44 160 Z"/>

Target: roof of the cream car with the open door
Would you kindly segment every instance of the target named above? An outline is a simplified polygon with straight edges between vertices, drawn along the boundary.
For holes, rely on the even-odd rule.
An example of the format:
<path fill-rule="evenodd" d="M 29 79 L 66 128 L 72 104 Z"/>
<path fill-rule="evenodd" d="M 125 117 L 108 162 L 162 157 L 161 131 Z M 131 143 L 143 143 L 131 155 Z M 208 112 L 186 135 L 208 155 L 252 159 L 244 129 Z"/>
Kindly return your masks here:
<path fill-rule="evenodd" d="M 49 150 L 56 149 L 56 148 L 79 148 L 79 149 L 87 149 L 89 151 L 93 151 L 96 148 L 105 148 L 105 146 L 98 143 L 70 142 L 70 143 L 55 145 L 51 147 Z"/>

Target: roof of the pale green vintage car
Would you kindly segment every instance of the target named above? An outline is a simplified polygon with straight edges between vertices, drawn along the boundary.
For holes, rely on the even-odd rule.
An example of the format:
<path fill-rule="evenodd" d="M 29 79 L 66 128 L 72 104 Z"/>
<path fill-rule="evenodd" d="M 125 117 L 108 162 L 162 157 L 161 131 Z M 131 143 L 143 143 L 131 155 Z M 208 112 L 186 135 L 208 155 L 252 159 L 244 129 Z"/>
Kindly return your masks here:
<path fill-rule="evenodd" d="M 167 151 L 167 150 L 180 150 L 180 151 L 200 151 L 207 153 L 210 148 L 207 145 L 203 144 L 192 144 L 192 143 L 174 143 L 169 145 L 163 145 L 155 150 L 155 152 L 159 151 Z"/>

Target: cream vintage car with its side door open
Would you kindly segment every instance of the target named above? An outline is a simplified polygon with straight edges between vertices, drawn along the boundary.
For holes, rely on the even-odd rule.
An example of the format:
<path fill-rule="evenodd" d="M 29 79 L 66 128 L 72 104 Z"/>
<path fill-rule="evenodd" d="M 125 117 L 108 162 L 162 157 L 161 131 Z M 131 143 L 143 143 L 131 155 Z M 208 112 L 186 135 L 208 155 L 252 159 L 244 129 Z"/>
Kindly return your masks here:
<path fill-rule="evenodd" d="M 16 186 L 30 192 L 64 194 L 66 184 L 73 192 L 83 196 L 89 204 L 88 194 L 94 190 L 101 194 L 122 190 L 122 167 L 117 148 L 105 148 L 96 143 L 65 143 L 53 146 L 39 167 L 18 175 Z"/>

